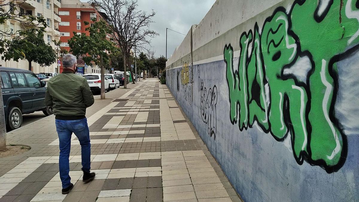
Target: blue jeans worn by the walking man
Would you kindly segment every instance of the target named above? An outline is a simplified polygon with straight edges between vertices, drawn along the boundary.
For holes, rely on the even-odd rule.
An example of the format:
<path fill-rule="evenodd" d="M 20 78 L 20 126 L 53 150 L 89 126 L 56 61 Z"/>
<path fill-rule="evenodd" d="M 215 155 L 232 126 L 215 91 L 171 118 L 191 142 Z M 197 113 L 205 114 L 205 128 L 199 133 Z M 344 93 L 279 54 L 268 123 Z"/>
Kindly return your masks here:
<path fill-rule="evenodd" d="M 90 132 L 87 125 L 87 119 L 79 120 L 59 120 L 55 119 L 56 131 L 59 135 L 60 142 L 60 157 L 59 157 L 59 170 L 62 188 L 70 186 L 70 166 L 69 156 L 71 148 L 71 135 L 72 133 L 79 139 L 81 145 L 81 160 L 82 170 L 85 172 L 90 171 Z"/>

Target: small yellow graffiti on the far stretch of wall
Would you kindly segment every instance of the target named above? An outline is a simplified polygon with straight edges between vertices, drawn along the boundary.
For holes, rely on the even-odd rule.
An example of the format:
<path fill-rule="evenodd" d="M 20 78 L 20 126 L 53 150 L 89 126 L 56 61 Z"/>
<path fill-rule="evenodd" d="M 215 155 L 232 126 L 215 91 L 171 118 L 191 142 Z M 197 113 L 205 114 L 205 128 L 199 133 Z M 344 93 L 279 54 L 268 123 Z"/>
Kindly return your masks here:
<path fill-rule="evenodd" d="M 193 65 L 190 65 L 190 61 L 182 62 L 182 68 L 180 70 L 181 84 L 185 100 L 189 105 L 193 103 Z"/>

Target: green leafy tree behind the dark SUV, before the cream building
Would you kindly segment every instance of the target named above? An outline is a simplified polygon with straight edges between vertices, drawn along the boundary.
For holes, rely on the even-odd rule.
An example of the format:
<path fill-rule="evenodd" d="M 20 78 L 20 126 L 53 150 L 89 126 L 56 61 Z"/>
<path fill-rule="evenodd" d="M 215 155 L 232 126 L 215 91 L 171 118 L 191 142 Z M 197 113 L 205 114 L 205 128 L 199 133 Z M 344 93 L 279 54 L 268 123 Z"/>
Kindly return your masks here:
<path fill-rule="evenodd" d="M 40 66 L 50 66 L 57 60 L 55 50 L 49 43 L 45 43 L 42 32 L 27 33 L 25 38 L 14 38 L 11 41 L 8 50 L 4 54 L 6 60 L 24 59 L 29 62 L 29 70 L 31 71 L 32 62 L 38 63 Z M 22 50 L 23 54 L 20 54 Z"/>

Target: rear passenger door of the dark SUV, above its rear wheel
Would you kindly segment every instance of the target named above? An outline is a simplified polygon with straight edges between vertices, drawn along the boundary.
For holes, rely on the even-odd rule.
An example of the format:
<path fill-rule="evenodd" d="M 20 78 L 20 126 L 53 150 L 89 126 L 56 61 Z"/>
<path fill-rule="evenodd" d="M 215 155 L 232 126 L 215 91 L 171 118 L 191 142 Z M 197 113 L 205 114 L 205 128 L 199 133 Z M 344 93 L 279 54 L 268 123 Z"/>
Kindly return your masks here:
<path fill-rule="evenodd" d="M 22 101 L 22 111 L 29 112 L 32 109 L 32 92 L 22 72 L 9 72 L 15 96 Z"/>

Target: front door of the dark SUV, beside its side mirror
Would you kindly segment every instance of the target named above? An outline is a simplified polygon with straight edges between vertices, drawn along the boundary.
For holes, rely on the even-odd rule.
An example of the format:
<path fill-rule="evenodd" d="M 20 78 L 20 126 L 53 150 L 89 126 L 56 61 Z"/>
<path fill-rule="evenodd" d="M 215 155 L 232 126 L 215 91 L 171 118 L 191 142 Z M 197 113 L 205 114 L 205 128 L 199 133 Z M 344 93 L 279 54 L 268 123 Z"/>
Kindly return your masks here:
<path fill-rule="evenodd" d="M 35 74 L 25 73 L 27 82 L 32 91 L 32 105 L 34 109 L 45 108 L 45 94 L 46 88 L 41 86 L 41 81 L 36 77 Z"/>

